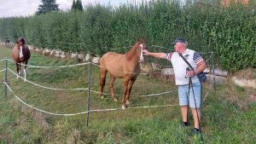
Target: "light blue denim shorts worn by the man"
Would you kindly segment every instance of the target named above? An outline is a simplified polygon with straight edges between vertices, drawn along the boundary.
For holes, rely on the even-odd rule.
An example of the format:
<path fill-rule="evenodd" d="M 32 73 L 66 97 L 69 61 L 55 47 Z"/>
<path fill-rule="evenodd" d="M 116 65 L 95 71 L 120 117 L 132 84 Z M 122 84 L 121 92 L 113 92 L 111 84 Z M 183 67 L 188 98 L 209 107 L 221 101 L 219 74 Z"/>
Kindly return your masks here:
<path fill-rule="evenodd" d="M 192 93 L 191 87 L 189 89 L 189 84 L 178 85 L 179 106 L 188 106 L 189 104 L 189 107 L 195 108 L 195 103 L 196 103 L 197 108 L 201 107 L 201 83 L 195 82 L 192 85 L 193 85 L 195 100 L 194 100 L 194 95 Z M 189 93 L 189 101 L 188 101 L 188 93 Z"/>

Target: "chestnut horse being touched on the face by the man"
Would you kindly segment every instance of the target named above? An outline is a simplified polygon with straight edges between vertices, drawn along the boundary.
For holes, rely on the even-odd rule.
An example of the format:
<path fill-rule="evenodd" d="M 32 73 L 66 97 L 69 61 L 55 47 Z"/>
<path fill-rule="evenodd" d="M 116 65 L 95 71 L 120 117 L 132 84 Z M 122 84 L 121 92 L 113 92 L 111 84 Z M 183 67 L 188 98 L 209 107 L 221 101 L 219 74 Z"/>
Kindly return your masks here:
<path fill-rule="evenodd" d="M 143 49 L 146 48 L 146 43 L 142 39 L 137 39 L 137 43 L 131 48 L 130 51 L 126 52 L 125 55 L 117 54 L 114 52 L 108 52 L 102 56 L 100 60 L 101 75 L 100 75 L 100 95 L 106 82 L 107 72 L 110 75 L 110 91 L 113 101 L 117 101 L 113 94 L 113 82 L 115 78 L 123 78 L 123 106 L 129 104 L 131 88 L 137 79 L 141 69 L 140 62 L 143 62 Z"/>

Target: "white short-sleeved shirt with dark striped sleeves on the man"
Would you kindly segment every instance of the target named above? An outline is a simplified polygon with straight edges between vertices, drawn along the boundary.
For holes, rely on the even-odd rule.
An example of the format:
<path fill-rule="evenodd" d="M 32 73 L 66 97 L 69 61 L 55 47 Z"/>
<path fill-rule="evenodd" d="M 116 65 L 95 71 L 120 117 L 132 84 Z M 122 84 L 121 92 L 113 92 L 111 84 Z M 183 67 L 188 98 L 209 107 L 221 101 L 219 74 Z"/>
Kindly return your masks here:
<path fill-rule="evenodd" d="M 188 60 L 189 64 L 194 68 L 194 70 L 196 69 L 197 64 L 203 60 L 201 55 L 191 49 L 186 49 L 182 55 L 186 60 Z M 175 74 L 175 84 L 189 84 L 189 77 L 187 76 L 187 67 L 189 67 L 189 65 L 183 60 L 183 58 L 177 52 L 174 52 L 166 54 L 166 59 L 172 61 Z M 192 77 L 192 83 L 195 82 L 199 82 L 196 75 Z"/>

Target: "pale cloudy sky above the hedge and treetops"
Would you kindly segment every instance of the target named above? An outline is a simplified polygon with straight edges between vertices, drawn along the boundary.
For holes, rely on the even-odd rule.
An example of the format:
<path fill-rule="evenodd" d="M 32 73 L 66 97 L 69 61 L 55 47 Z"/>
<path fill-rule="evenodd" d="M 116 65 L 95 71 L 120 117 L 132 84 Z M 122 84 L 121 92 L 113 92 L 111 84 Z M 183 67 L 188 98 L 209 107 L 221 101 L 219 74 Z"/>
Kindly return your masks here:
<path fill-rule="evenodd" d="M 81 0 L 83 6 L 101 3 L 104 5 L 119 6 L 119 3 L 132 3 L 133 0 Z M 56 0 L 59 9 L 70 9 L 73 0 Z M 10 16 L 29 16 L 35 14 L 41 0 L 0 0 L 0 18 Z"/>

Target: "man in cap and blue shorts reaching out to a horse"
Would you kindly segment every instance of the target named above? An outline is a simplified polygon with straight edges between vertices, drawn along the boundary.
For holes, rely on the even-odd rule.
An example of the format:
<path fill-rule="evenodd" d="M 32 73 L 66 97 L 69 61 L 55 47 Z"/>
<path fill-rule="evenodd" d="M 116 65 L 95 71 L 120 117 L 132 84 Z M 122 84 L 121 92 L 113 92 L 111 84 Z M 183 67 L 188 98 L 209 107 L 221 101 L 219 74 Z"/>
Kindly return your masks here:
<path fill-rule="evenodd" d="M 174 48 L 176 52 L 173 53 L 151 53 L 147 49 L 143 50 L 144 55 L 151 55 L 156 58 L 166 59 L 172 61 L 172 66 L 175 74 L 175 83 L 178 87 L 178 99 L 181 107 L 181 113 L 183 118 L 183 126 L 189 126 L 188 122 L 188 105 L 192 109 L 192 115 L 194 119 L 194 129 L 192 133 L 199 133 L 200 121 L 201 121 L 201 82 L 197 78 L 196 74 L 202 72 L 206 68 L 205 60 L 202 59 L 194 50 L 188 49 L 188 42 L 183 37 L 177 37 L 174 42 Z M 188 60 L 189 64 L 193 66 L 195 71 L 188 68 L 188 64 L 183 58 Z M 192 89 L 189 89 L 189 78 L 192 80 L 194 95 Z M 188 95 L 189 92 L 189 95 Z M 196 103 L 196 105 L 195 105 Z M 196 106 L 196 107 L 195 107 Z"/>

